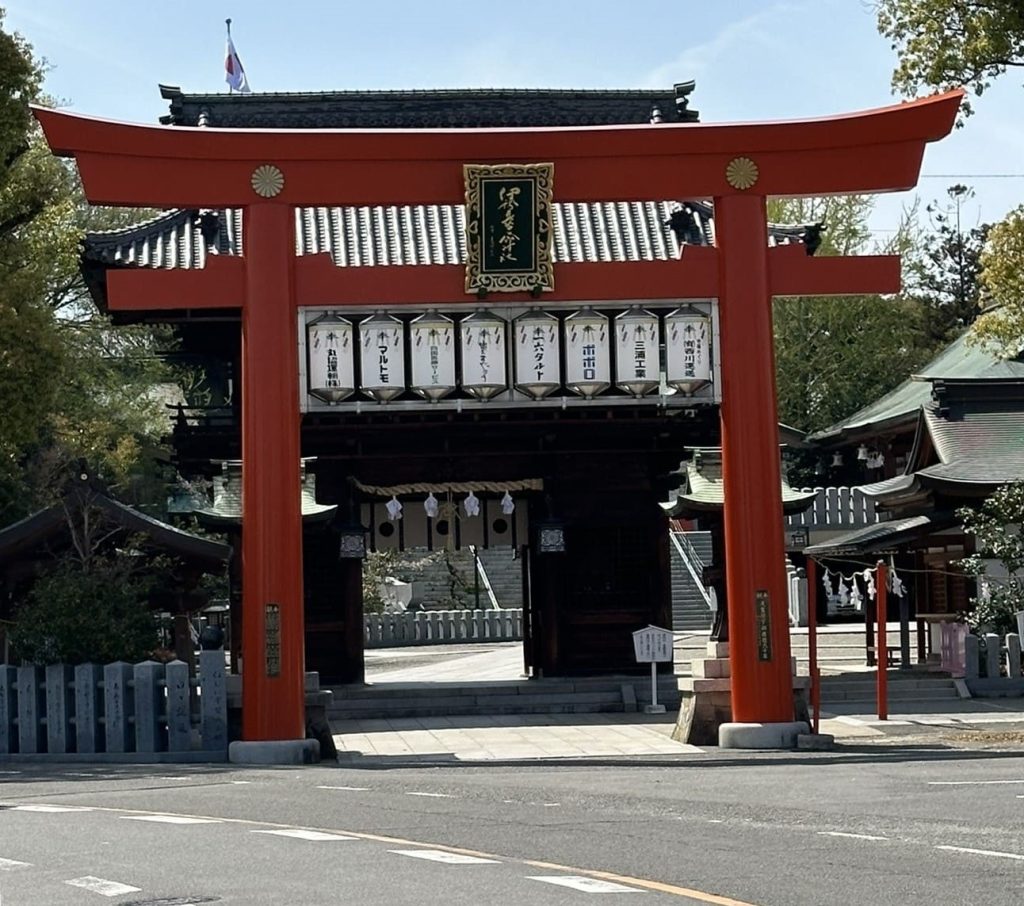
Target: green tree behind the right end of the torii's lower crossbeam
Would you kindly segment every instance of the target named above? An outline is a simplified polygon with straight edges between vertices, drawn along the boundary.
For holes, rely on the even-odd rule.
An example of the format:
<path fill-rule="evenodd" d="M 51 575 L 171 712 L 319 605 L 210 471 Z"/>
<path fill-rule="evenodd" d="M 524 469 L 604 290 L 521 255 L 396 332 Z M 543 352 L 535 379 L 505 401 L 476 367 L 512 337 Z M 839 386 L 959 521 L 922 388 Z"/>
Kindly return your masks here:
<path fill-rule="evenodd" d="M 773 202 L 776 223 L 825 224 L 818 255 L 873 251 L 862 197 Z M 911 215 L 881 251 L 911 253 Z M 779 419 L 825 428 L 887 393 L 932 354 L 924 309 L 911 296 L 794 297 L 774 304 Z"/>

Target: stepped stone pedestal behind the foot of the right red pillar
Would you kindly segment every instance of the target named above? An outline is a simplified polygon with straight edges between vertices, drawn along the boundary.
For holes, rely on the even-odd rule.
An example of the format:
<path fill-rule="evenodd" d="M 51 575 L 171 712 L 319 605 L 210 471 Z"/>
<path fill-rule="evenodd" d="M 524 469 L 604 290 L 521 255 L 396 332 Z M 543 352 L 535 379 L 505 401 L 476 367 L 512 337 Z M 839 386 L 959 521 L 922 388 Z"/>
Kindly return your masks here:
<path fill-rule="evenodd" d="M 672 738 L 690 745 L 720 745 L 719 728 L 732 722 L 732 681 L 729 675 L 729 645 L 709 642 L 708 657 L 694 658 L 692 677 L 680 680 L 682 702 Z M 796 658 L 793 662 L 796 674 Z M 793 678 L 793 710 L 797 722 L 810 724 L 807 704 L 809 677 Z M 801 730 L 806 733 L 807 729 Z M 788 747 L 792 748 L 794 742 Z"/>

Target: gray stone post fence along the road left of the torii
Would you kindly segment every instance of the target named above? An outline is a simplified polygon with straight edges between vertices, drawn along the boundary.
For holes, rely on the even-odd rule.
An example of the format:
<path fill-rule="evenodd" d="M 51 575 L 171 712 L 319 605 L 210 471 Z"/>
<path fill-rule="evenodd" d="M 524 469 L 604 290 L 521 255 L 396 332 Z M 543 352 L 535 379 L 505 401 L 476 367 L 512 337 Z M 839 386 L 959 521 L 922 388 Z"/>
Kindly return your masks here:
<path fill-rule="evenodd" d="M 180 660 L 76 666 L 0 664 L 0 756 L 227 757 L 224 652 Z M 194 732 L 198 730 L 198 733 Z"/>

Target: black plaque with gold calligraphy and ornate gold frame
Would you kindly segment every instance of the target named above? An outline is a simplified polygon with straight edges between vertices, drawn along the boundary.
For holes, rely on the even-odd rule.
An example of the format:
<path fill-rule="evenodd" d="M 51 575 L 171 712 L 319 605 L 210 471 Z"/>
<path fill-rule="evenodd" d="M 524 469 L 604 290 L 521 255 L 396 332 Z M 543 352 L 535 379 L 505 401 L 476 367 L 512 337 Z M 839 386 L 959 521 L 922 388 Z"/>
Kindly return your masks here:
<path fill-rule="evenodd" d="M 467 293 L 554 290 L 554 164 L 463 166 Z"/>

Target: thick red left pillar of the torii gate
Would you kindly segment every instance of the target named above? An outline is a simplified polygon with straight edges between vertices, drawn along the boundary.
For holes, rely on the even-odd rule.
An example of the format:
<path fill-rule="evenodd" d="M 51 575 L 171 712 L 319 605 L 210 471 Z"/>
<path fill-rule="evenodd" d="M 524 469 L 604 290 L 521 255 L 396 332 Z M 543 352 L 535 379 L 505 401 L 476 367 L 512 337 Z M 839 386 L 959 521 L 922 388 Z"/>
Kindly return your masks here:
<path fill-rule="evenodd" d="M 242 309 L 242 735 L 305 737 L 295 215 L 245 213 Z"/>

